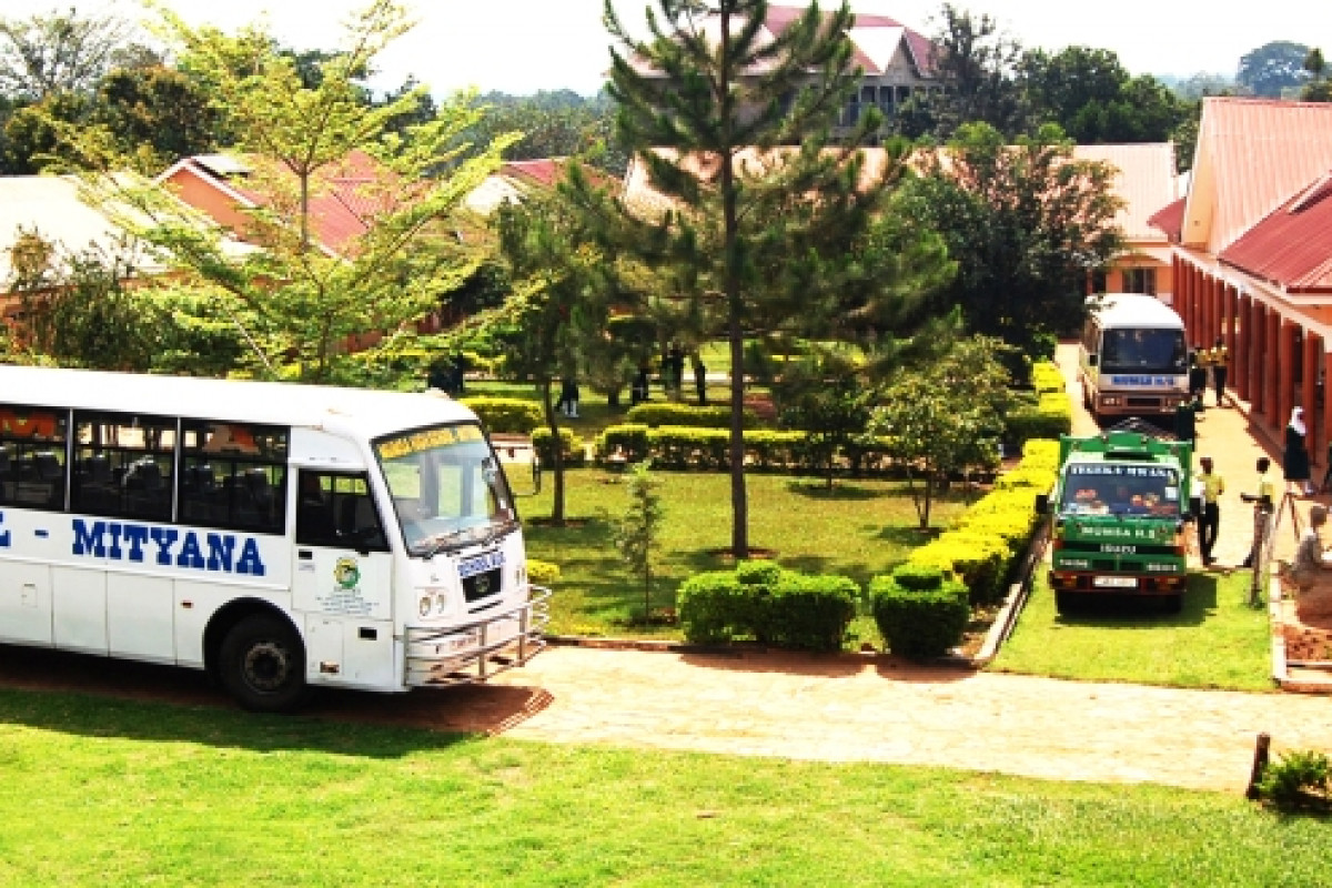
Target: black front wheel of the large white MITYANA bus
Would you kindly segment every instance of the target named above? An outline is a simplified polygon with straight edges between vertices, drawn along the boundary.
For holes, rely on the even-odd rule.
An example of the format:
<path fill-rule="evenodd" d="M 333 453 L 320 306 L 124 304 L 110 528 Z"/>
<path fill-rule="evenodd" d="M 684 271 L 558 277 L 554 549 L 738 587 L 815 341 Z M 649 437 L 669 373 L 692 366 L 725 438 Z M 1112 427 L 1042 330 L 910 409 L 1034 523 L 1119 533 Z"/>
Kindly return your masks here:
<path fill-rule="evenodd" d="M 305 698 L 305 647 L 286 620 L 254 614 L 222 640 L 222 686 L 252 712 L 290 712 Z"/>

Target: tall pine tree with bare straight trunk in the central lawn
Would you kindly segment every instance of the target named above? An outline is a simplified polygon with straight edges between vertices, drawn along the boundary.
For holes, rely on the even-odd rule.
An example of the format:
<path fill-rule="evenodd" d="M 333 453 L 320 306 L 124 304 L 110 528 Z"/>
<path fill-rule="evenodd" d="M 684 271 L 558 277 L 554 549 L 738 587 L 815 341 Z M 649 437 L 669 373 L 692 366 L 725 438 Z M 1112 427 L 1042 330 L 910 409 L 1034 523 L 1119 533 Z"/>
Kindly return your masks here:
<path fill-rule="evenodd" d="M 878 245 L 899 148 L 871 169 L 859 150 L 882 122 L 871 109 L 839 148 L 827 133 L 858 72 L 843 4 L 806 9 L 778 37 L 762 0 L 658 0 L 639 39 L 605 7 L 615 40 L 609 92 L 617 133 L 674 209 L 625 213 L 603 236 L 657 265 L 662 293 L 693 304 L 729 343 L 731 549 L 749 553 L 743 401 L 746 337 L 781 326 L 832 329 L 847 300 L 860 317 L 915 297 Z M 817 72 L 811 77 L 810 72 Z M 799 145 L 799 148 L 783 148 Z M 942 253 L 938 254 L 942 262 Z M 887 313 L 887 309 L 883 309 Z"/>

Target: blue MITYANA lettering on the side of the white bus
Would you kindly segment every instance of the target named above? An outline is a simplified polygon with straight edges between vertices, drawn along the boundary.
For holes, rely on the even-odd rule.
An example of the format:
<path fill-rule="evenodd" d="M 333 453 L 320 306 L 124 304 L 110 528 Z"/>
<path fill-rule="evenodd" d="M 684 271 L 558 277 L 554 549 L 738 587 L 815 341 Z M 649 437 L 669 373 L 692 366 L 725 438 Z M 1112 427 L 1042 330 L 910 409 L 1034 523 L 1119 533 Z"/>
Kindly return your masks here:
<path fill-rule="evenodd" d="M 0 521 L 4 517 L 0 515 Z M 176 564 L 226 574 L 249 574 L 264 576 L 268 567 L 258 554 L 258 543 L 253 537 L 237 538 L 234 534 L 208 534 L 208 556 L 200 546 L 198 534 L 192 530 L 180 531 L 174 527 L 153 527 L 149 525 L 129 525 L 95 521 L 91 525 L 83 518 L 73 519 L 73 554 L 88 558 L 111 558 L 112 560 L 141 562 L 145 545 L 152 541 L 157 546 L 155 560 L 159 564 Z M 241 539 L 240 555 L 236 555 L 236 541 Z M 172 554 L 176 542 L 180 549 Z M 9 533 L 0 535 L 0 545 L 9 545 Z"/>

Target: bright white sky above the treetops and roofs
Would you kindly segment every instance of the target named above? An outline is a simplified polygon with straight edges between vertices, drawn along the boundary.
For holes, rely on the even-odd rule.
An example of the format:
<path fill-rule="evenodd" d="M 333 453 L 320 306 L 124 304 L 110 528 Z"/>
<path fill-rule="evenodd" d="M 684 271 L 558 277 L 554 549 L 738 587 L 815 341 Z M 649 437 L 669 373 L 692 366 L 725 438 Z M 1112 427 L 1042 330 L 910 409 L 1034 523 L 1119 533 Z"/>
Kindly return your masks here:
<path fill-rule="evenodd" d="M 368 0 L 163 0 L 190 24 L 225 31 L 266 16 L 277 39 L 298 49 L 333 48 L 348 13 Z M 573 89 L 590 96 L 609 67 L 602 0 L 404 0 L 418 20 L 380 63 L 376 85 L 396 87 L 414 75 L 437 95 L 466 87 L 529 95 Z M 651 0 L 614 0 L 626 27 L 639 28 Z M 825 0 L 831 8 L 834 0 Z M 0 16 L 24 8 L 67 9 L 68 0 L 0 0 Z M 787 0 L 787 5 L 805 5 Z M 1319 47 L 1332 59 L 1332 1 L 1279 0 L 1227 4 L 1212 0 L 952 0 L 990 15 L 1028 49 L 1058 52 L 1083 45 L 1111 49 L 1132 75 L 1235 75 L 1240 56 L 1273 40 Z M 133 0 L 84 3 L 80 12 L 112 9 L 140 17 Z M 924 35 L 935 32 L 943 0 L 859 0 L 855 12 L 887 15 Z M 1243 13 L 1239 11 L 1243 9 Z"/>

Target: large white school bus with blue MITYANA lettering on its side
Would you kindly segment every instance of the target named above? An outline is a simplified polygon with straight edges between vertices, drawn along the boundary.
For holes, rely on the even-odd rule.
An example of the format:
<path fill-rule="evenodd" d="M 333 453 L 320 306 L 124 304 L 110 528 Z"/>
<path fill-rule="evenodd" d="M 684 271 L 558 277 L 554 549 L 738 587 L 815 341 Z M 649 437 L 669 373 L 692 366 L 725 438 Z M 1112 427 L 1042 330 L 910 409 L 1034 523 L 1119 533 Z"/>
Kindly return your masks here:
<path fill-rule="evenodd" d="M 522 664 L 549 596 L 442 395 L 0 366 L 0 642 L 204 668 L 289 711 Z"/>

